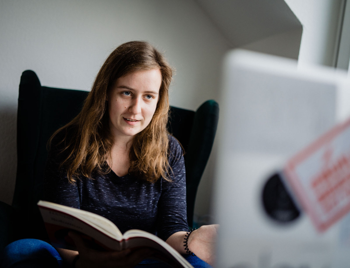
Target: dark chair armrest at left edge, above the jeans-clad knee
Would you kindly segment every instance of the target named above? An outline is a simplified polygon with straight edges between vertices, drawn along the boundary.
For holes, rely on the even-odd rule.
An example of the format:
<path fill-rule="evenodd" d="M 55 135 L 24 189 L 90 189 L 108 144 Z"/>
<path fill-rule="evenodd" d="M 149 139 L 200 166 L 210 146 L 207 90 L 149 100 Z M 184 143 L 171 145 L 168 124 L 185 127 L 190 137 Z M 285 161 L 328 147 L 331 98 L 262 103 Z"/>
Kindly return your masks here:
<path fill-rule="evenodd" d="M 0 201 L 0 251 L 17 238 L 17 217 L 14 207 Z"/>

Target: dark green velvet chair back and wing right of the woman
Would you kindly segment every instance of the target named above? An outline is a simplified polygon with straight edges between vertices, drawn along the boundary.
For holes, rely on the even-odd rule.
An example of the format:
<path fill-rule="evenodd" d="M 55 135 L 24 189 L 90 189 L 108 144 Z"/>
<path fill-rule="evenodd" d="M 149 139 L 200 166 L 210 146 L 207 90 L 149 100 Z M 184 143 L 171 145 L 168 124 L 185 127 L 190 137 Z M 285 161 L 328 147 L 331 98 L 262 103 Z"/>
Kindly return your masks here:
<path fill-rule="evenodd" d="M 196 111 L 170 107 L 168 130 L 185 151 L 187 221 L 193 227 L 197 188 L 207 165 L 219 119 L 219 105 L 204 102 Z"/>

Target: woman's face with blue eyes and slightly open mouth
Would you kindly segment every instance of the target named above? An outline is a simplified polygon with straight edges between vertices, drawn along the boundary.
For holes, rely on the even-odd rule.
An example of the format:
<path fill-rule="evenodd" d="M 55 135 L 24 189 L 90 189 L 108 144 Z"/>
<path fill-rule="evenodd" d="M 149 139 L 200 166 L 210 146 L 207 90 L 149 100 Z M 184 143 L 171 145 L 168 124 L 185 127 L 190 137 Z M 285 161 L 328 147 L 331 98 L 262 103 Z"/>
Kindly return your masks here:
<path fill-rule="evenodd" d="M 159 69 L 136 71 L 117 79 L 107 94 L 113 137 L 132 138 L 151 122 L 162 75 Z"/>

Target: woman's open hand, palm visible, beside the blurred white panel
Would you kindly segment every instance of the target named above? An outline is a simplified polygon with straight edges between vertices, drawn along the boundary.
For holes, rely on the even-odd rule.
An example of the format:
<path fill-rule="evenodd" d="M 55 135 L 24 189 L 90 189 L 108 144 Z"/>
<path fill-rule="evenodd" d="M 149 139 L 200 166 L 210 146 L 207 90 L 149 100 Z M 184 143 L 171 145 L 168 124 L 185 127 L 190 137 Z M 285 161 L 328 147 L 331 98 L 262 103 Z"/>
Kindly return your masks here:
<path fill-rule="evenodd" d="M 193 231 L 187 241 L 188 249 L 200 259 L 215 264 L 216 237 L 219 225 L 203 225 Z"/>

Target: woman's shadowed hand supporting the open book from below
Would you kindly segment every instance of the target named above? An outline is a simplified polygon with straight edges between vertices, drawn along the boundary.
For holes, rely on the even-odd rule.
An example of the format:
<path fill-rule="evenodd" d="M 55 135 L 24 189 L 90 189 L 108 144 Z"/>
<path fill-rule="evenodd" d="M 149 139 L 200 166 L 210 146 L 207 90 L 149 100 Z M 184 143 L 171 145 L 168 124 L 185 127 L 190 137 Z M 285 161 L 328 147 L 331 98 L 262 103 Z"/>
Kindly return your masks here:
<path fill-rule="evenodd" d="M 79 234 L 69 232 L 68 235 L 73 239 L 79 252 L 76 268 L 134 267 L 154 253 L 151 248 L 147 247 L 122 251 L 98 251 L 87 247 Z"/>

